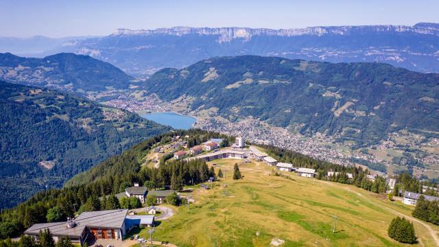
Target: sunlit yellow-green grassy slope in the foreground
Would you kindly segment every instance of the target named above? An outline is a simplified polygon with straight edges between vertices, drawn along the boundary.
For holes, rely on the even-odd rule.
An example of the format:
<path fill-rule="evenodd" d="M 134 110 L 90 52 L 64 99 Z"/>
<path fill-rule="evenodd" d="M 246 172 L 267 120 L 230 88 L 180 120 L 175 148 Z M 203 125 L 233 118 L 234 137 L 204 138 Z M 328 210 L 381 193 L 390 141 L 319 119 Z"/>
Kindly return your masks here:
<path fill-rule="evenodd" d="M 270 176 L 271 167 L 256 162 L 240 165 L 244 178 L 232 180 L 233 164 L 240 160 L 213 163 L 226 178 L 207 191 L 194 187 L 195 204 L 158 222 L 154 239 L 177 246 L 270 246 L 276 238 L 285 240 L 283 246 L 404 246 L 387 236 L 393 217 L 410 217 L 412 208 L 400 201 L 296 174 Z M 438 226 L 427 224 L 429 231 L 424 224 L 414 225 L 416 246 L 437 246 L 431 232 L 437 235 Z M 146 230 L 140 235 L 147 238 Z"/>

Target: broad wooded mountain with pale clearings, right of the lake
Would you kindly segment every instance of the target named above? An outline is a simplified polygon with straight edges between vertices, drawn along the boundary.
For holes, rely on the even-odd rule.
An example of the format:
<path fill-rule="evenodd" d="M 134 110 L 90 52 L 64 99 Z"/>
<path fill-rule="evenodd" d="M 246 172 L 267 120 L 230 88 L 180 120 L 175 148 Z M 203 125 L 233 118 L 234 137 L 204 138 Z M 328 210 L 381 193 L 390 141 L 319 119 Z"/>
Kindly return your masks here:
<path fill-rule="evenodd" d="M 158 71 L 145 89 L 168 101 L 195 97 L 192 110 L 216 107 L 232 121 L 253 116 L 302 134 L 338 133 L 357 147 L 403 128 L 439 131 L 439 74 L 389 64 L 219 57 Z"/>

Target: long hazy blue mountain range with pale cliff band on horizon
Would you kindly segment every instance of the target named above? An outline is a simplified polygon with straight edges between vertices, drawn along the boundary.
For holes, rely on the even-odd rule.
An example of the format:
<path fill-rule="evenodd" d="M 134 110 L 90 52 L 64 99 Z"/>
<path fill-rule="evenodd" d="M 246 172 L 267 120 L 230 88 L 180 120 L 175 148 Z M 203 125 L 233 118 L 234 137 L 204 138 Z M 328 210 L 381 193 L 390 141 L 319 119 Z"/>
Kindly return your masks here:
<path fill-rule="evenodd" d="M 1 47 L 5 50 L 7 47 Z M 119 29 L 98 38 L 50 48 L 115 64 L 132 75 L 182 68 L 215 56 L 279 56 L 327 62 L 385 62 L 412 71 L 439 72 L 439 24 L 252 29 L 172 27 Z"/>

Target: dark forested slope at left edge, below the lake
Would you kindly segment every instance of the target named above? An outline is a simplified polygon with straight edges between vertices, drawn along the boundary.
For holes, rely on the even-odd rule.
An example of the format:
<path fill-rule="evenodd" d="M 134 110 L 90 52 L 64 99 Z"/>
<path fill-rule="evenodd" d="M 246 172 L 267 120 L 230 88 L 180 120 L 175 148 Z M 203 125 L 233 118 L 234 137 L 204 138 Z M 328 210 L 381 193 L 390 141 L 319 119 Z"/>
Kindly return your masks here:
<path fill-rule="evenodd" d="M 0 111 L 0 208 L 46 186 L 60 187 L 134 143 L 169 131 L 125 110 L 1 81 Z"/>

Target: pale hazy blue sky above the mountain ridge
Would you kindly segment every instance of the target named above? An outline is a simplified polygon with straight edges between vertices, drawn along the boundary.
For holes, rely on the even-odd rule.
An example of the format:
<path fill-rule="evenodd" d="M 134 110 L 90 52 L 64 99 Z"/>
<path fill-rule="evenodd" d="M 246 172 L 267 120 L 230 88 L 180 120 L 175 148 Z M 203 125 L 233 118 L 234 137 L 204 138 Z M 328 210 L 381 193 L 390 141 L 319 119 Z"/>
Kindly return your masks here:
<path fill-rule="evenodd" d="M 185 25 L 293 28 L 439 23 L 438 0 L 0 0 L 0 36 L 106 35 Z"/>

